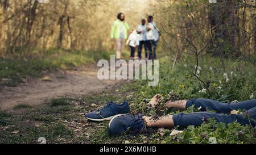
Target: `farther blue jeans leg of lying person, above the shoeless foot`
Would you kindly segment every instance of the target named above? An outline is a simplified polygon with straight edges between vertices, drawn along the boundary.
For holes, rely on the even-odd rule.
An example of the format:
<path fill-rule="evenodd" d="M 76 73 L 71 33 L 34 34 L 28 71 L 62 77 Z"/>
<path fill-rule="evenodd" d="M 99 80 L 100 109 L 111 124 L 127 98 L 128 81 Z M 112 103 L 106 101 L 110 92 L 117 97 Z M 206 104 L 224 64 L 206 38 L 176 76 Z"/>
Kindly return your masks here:
<path fill-rule="evenodd" d="M 208 109 L 216 111 L 217 113 L 229 114 L 232 110 L 250 110 L 251 108 L 256 107 L 256 100 L 228 104 L 211 99 L 191 99 L 188 100 L 186 108 L 191 107 L 192 105 L 195 105 L 196 108 L 201 107 L 201 111 L 207 111 Z"/>

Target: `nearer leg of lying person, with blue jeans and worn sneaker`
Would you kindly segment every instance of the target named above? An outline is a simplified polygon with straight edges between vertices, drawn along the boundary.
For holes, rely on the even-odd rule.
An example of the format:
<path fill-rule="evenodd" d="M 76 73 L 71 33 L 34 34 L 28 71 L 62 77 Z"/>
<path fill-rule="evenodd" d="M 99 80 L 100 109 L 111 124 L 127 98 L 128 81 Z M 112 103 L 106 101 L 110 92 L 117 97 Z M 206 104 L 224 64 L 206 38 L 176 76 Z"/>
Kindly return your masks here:
<path fill-rule="evenodd" d="M 191 114 L 177 114 L 163 116 L 162 118 L 153 119 L 151 117 L 139 115 L 119 115 L 110 120 L 109 134 L 118 136 L 127 131 L 127 129 L 150 128 L 174 128 L 177 126 L 188 127 L 189 125 L 200 126 L 208 119 L 215 119 L 228 125 L 229 123 L 238 122 L 242 125 L 256 125 L 256 107 L 246 111 L 241 115 L 216 114 L 214 112 L 194 112 Z"/>

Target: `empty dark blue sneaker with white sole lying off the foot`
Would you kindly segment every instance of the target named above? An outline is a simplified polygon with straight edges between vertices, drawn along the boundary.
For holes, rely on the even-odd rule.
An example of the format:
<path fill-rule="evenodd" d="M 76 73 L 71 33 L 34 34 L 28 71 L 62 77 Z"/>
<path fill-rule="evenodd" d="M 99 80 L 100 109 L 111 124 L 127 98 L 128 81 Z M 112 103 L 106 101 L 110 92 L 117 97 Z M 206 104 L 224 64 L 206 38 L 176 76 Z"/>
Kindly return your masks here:
<path fill-rule="evenodd" d="M 128 114 L 129 112 L 130 106 L 127 101 L 123 102 L 120 105 L 115 104 L 114 102 L 109 102 L 101 110 L 96 110 L 93 112 L 89 112 L 88 114 L 85 114 L 85 118 L 96 122 L 102 122 L 111 120 L 116 115 Z"/>

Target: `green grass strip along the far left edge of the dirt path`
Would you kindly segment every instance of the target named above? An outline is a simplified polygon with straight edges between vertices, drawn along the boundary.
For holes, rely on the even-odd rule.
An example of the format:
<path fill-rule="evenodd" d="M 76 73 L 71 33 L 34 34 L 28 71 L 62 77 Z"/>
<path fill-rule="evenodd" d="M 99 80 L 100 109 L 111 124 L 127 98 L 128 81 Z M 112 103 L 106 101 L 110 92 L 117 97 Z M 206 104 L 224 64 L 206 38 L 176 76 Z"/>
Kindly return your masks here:
<path fill-rule="evenodd" d="M 0 57 L 0 84 L 15 86 L 24 82 L 27 76 L 41 77 L 43 70 L 73 69 L 80 65 L 93 64 L 101 58 L 109 59 L 111 53 L 113 52 L 48 49 L 44 52 L 32 51 L 26 57 Z"/>

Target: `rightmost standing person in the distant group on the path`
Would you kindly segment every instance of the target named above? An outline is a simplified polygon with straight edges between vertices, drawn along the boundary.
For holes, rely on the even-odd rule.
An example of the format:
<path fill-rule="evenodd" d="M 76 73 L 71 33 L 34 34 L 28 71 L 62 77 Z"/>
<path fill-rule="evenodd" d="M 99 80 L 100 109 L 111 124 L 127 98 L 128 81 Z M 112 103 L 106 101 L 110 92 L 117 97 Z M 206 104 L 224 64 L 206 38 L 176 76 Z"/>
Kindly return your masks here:
<path fill-rule="evenodd" d="M 150 60 L 155 60 L 156 59 L 156 47 L 158 44 L 158 40 L 159 40 L 159 30 L 158 28 L 156 28 L 156 24 L 153 22 L 153 16 L 148 16 L 147 18 L 147 33 L 146 33 L 146 37 L 147 37 L 147 48 L 150 51 L 150 56 L 149 59 Z M 153 47 L 153 50 L 152 50 Z"/>

